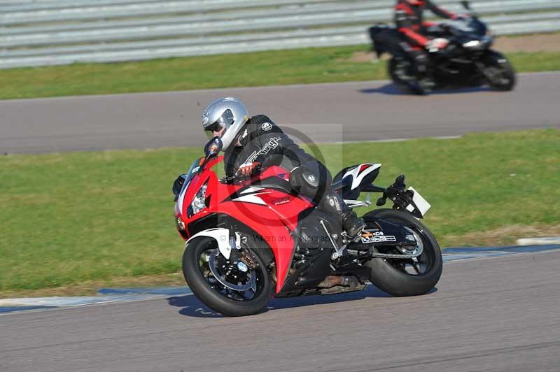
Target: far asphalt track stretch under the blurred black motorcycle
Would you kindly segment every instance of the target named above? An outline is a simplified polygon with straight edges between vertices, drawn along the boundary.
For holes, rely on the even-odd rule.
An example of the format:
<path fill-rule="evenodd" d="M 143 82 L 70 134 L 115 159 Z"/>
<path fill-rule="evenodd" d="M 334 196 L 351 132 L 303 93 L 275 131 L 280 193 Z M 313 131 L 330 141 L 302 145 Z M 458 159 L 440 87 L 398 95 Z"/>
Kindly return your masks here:
<path fill-rule="evenodd" d="M 551 72 L 521 74 L 506 93 L 409 96 L 370 81 L 0 101 L 0 152 L 201 146 L 200 114 L 221 96 L 316 143 L 560 127 L 560 73 Z"/>

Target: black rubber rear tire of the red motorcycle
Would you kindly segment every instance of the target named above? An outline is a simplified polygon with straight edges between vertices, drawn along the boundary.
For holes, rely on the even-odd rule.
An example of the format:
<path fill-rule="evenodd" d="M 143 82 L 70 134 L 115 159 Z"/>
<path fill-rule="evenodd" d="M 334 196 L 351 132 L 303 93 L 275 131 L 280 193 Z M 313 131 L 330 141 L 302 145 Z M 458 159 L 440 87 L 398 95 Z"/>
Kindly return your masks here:
<path fill-rule="evenodd" d="M 370 281 L 379 289 L 393 294 L 393 296 L 418 296 L 426 294 L 435 285 L 442 275 L 443 261 L 440 245 L 424 224 L 414 216 L 401 210 L 378 209 L 372 210 L 363 216 L 365 222 L 373 224 L 376 219 L 387 220 L 407 227 L 416 239 L 421 239 L 423 252 L 413 259 L 384 259 L 375 257 L 366 262 L 371 270 Z M 383 253 L 398 253 L 396 248 L 378 250 Z M 412 270 L 409 266 L 412 266 Z"/>

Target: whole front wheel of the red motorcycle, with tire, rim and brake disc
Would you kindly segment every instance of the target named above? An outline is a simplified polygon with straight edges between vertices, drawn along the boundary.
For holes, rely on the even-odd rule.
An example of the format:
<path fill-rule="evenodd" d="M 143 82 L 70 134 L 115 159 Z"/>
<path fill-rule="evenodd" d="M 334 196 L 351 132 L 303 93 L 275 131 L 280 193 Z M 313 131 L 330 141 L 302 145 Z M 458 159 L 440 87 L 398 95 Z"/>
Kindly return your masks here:
<path fill-rule="evenodd" d="M 258 250 L 226 259 L 212 238 L 190 241 L 183 253 L 183 275 L 195 296 L 226 316 L 253 315 L 272 298 L 272 282 Z"/>

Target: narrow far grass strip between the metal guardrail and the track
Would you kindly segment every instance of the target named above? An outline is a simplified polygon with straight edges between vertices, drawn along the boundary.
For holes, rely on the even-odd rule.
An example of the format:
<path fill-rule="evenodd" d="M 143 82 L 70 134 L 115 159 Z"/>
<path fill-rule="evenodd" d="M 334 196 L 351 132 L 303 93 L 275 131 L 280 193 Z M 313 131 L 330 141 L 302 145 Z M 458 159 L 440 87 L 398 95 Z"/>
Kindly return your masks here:
<path fill-rule="evenodd" d="M 386 78 L 386 62 L 351 62 L 367 45 L 0 70 L 0 99 L 195 90 Z M 560 70 L 560 52 L 508 54 L 524 71 Z"/>

